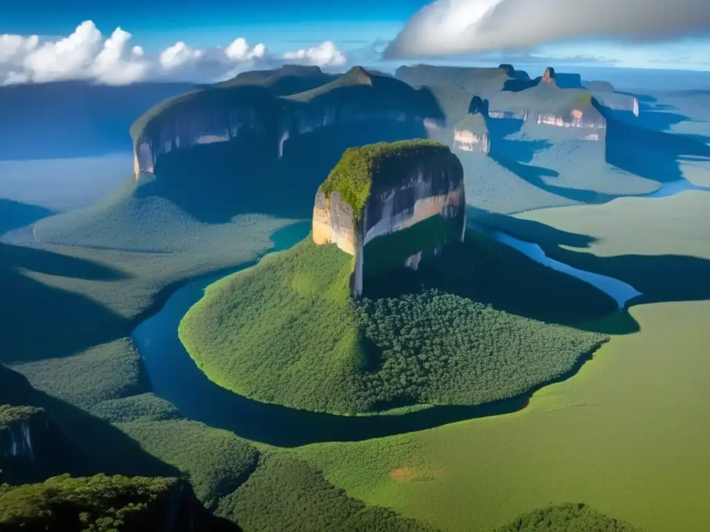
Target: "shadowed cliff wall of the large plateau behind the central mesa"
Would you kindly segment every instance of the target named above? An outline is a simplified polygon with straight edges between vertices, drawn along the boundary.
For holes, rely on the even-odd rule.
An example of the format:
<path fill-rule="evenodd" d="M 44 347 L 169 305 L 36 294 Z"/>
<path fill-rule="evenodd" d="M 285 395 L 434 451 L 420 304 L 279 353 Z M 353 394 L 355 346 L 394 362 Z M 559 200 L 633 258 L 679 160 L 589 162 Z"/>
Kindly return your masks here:
<path fill-rule="evenodd" d="M 133 170 L 136 177 L 139 172 L 158 174 L 165 155 L 214 143 L 231 143 L 246 164 L 250 158 L 263 164 L 283 157 L 299 136 L 324 128 L 339 128 L 342 134 L 367 130 L 370 122 L 361 136 L 372 138 L 381 123 L 399 123 L 405 131 L 400 138 L 415 138 L 425 131 L 425 121 L 441 119 L 427 92 L 360 67 L 290 96 L 276 96 L 257 84 L 220 84 L 164 101 L 138 118 L 131 128 Z"/>

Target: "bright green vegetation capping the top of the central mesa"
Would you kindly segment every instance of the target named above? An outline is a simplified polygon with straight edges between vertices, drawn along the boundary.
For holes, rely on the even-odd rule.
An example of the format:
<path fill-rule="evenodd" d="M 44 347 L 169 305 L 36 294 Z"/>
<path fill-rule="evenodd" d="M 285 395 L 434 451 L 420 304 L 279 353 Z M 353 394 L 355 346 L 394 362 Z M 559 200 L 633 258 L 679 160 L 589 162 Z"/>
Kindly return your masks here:
<path fill-rule="evenodd" d="M 392 179 L 401 179 L 403 167 L 420 162 L 425 157 L 440 157 L 449 153 L 447 146 L 424 139 L 348 148 L 320 189 L 327 197 L 337 192 L 352 208 L 355 219 L 359 220 L 373 184 L 394 184 Z"/>

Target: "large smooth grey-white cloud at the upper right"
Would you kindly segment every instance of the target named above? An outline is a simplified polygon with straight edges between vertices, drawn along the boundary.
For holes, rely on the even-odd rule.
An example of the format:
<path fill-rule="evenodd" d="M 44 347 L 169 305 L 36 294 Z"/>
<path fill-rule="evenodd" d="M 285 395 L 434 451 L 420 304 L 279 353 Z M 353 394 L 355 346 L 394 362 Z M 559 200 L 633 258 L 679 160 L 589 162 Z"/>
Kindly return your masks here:
<path fill-rule="evenodd" d="M 437 0 L 386 59 L 510 50 L 577 38 L 658 41 L 710 34 L 708 0 Z"/>

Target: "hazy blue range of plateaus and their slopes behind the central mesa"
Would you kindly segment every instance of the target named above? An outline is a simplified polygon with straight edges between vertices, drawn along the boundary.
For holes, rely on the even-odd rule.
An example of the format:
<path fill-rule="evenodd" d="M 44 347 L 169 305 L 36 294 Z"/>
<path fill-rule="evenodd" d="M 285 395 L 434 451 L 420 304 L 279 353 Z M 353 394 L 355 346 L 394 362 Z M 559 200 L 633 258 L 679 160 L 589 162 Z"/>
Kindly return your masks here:
<path fill-rule="evenodd" d="M 144 111 L 130 131 L 131 182 L 92 209 L 40 221 L 35 235 L 64 245 L 107 245 L 114 235 L 123 249 L 140 234 L 131 249 L 165 250 L 180 245 L 154 241 L 158 227 L 187 231 L 241 214 L 305 219 L 344 150 L 415 138 L 460 157 L 469 204 L 488 207 L 505 191 L 493 209 L 506 212 L 647 194 L 679 179 L 677 166 L 655 155 L 674 161 L 679 150 L 698 150 L 654 133 L 654 157 L 641 156 L 648 140 L 635 143 L 643 132 L 618 123 L 618 113 L 633 125 L 638 99 L 553 68 L 535 79 L 512 65 L 417 65 L 394 77 L 363 67 L 244 72 Z"/>

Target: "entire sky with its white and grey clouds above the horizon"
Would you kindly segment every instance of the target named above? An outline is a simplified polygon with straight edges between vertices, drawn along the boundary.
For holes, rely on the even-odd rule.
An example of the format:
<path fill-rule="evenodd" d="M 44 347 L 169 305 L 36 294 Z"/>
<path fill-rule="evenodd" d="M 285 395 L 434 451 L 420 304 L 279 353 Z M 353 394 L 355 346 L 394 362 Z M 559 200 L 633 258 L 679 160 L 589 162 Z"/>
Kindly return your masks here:
<path fill-rule="evenodd" d="M 707 1 L 24 0 L 2 9 L 0 84 L 212 82 L 284 62 L 710 71 Z"/>

